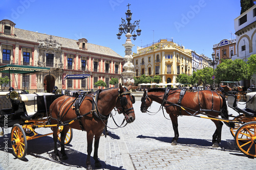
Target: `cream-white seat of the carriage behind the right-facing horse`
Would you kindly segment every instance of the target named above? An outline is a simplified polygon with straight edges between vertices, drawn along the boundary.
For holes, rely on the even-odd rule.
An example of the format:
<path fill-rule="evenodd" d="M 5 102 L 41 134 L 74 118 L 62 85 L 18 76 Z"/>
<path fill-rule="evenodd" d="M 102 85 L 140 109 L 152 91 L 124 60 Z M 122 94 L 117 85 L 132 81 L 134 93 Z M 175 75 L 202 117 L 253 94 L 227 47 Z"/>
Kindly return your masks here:
<path fill-rule="evenodd" d="M 19 94 L 20 101 L 24 102 L 28 116 L 31 116 L 37 112 L 36 96 L 42 95 L 55 95 L 53 93 L 31 93 L 31 94 Z"/>

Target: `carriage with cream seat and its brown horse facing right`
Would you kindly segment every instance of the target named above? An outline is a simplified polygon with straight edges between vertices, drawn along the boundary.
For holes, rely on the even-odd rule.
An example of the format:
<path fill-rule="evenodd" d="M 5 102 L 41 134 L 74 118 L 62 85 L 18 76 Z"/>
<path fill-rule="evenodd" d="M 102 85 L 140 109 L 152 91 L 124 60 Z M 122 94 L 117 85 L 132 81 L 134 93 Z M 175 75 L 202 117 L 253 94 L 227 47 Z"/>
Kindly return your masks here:
<path fill-rule="evenodd" d="M 34 72 L 50 71 L 50 68 L 25 66 L 1 66 L 0 72 L 9 74 L 32 74 Z M 77 79 L 78 75 L 70 79 Z M 84 79 L 87 76 L 84 76 Z M 55 159 L 59 160 L 57 140 L 61 144 L 62 159 L 67 159 L 64 145 L 70 143 L 73 136 L 72 128 L 87 131 L 88 169 L 92 169 L 90 155 L 94 139 L 95 165 L 100 167 L 98 160 L 98 143 L 100 134 L 106 125 L 110 112 L 117 108 L 123 113 L 124 120 L 132 123 L 135 113 L 132 105 L 135 98 L 130 89 L 122 87 L 91 91 L 77 91 L 74 96 L 53 93 L 31 93 L 11 90 L 6 92 L 7 108 L 0 110 L 1 135 L 8 136 L 7 128 L 11 129 L 11 145 L 13 154 L 18 159 L 24 159 L 27 154 L 27 140 L 53 134 Z M 89 93 L 89 94 L 88 94 Z M 1 99 L 0 99 L 1 100 Z M 109 102 L 106 102 L 109 101 Z M 123 121 L 124 122 L 124 121 Z M 53 133 L 39 135 L 37 128 L 51 128 Z"/>

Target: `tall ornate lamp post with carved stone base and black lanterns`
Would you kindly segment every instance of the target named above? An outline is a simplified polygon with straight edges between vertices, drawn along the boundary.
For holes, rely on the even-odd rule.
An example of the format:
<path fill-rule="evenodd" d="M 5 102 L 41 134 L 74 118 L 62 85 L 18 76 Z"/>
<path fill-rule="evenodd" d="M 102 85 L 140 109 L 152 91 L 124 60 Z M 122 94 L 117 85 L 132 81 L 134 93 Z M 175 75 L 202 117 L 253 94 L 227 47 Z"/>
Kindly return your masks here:
<path fill-rule="evenodd" d="M 119 25 L 119 32 L 117 34 L 117 38 L 120 39 L 121 35 L 125 33 L 125 37 L 127 38 L 125 41 L 125 44 L 122 44 L 125 48 L 125 56 L 124 56 L 124 64 L 123 69 L 124 71 L 121 73 L 122 75 L 122 82 L 125 86 L 134 84 L 133 77 L 135 76 L 136 72 L 133 71 L 134 65 L 133 65 L 133 55 L 132 55 L 132 47 L 134 44 L 132 44 L 131 37 L 133 37 L 134 40 L 136 40 L 137 35 L 140 36 L 140 28 L 139 28 L 139 22 L 140 20 L 134 21 L 134 23 L 131 23 L 132 20 L 132 13 L 129 9 L 129 6 L 131 4 L 128 4 L 128 9 L 125 12 L 126 14 L 126 21 L 122 19 L 122 23 Z M 138 29 L 135 29 L 138 26 Z M 133 34 L 133 35 L 132 35 Z"/>

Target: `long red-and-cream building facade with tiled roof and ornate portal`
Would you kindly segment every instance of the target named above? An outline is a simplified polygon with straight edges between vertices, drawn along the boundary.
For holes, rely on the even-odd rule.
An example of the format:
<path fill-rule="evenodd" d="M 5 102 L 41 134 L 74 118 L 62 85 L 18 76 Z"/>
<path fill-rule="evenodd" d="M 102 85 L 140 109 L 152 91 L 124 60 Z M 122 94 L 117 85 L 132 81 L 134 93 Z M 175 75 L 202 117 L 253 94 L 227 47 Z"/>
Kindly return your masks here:
<path fill-rule="evenodd" d="M 6 64 L 50 67 L 47 74 L 10 76 L 13 88 L 51 92 L 54 86 L 70 90 L 98 89 L 94 86 L 98 80 L 103 80 L 106 88 L 114 87 L 109 81 L 118 78 L 121 82 L 123 57 L 109 47 L 88 43 L 85 38 L 73 40 L 22 30 L 4 19 L 0 21 L 0 65 Z M 67 75 L 82 74 L 90 78 L 64 80 Z"/>

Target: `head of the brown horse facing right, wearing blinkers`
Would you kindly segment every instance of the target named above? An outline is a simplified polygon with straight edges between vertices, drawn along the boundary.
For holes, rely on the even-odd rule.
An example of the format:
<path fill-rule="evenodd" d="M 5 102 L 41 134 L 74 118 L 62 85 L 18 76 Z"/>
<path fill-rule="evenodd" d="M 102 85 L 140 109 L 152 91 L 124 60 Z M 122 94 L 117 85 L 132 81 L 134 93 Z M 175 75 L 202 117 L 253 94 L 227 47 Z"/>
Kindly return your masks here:
<path fill-rule="evenodd" d="M 135 97 L 130 92 L 131 88 L 132 85 L 126 88 L 119 84 L 119 94 L 116 103 L 118 110 L 124 114 L 127 123 L 132 123 L 135 120 L 135 113 L 133 109 Z"/>

